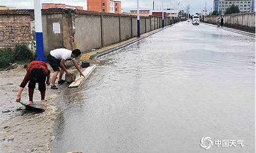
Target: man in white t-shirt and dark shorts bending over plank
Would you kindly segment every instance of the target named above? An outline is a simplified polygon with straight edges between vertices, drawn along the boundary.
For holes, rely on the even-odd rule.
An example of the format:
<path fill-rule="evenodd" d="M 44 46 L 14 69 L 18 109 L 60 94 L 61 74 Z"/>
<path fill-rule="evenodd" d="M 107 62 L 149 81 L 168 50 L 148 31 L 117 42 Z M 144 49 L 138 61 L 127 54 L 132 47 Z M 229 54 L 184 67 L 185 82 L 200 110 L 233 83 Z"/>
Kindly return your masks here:
<path fill-rule="evenodd" d="M 64 64 L 66 60 L 72 60 L 74 63 L 74 66 L 79 71 L 80 75 L 82 75 L 84 77 L 82 71 L 80 70 L 80 67 L 78 66 L 78 64 L 76 63 L 76 61 L 74 59 L 80 55 L 81 55 L 81 51 L 79 49 L 75 49 L 72 51 L 72 50 L 65 49 L 65 48 L 54 49 L 49 53 L 49 55 L 47 56 L 47 60 L 48 60 L 48 63 L 50 64 L 50 66 L 52 67 L 52 69 L 54 70 L 54 73 L 52 76 L 51 89 L 58 89 L 55 86 L 55 81 L 56 81 L 58 73 L 59 73 L 58 84 L 65 83 L 65 80 L 62 80 L 62 75 L 64 72 L 66 72 L 66 74 L 68 74 L 68 75 L 72 75 L 72 73 L 67 70 L 67 68 Z M 61 69 L 59 69 L 59 68 L 61 68 Z"/>

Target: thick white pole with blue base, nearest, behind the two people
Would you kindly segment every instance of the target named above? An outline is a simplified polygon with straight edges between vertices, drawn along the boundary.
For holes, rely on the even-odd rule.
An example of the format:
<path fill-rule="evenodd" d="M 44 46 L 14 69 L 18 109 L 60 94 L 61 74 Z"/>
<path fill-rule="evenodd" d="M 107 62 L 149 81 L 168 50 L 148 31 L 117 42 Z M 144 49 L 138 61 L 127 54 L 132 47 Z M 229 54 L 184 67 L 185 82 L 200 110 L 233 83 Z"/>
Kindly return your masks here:
<path fill-rule="evenodd" d="M 34 15 L 35 15 L 35 37 L 36 37 L 36 61 L 46 62 L 44 56 L 44 43 L 42 41 L 42 16 L 41 2 L 34 0 Z"/>

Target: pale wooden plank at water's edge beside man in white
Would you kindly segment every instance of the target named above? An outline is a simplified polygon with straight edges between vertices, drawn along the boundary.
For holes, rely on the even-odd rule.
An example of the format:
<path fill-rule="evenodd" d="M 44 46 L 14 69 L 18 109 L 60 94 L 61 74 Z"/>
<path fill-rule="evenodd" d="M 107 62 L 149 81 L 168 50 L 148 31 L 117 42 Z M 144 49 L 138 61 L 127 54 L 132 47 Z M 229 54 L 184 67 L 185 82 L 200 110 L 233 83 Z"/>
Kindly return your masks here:
<path fill-rule="evenodd" d="M 82 84 L 82 82 L 84 81 L 84 80 L 86 80 L 87 78 L 88 78 L 88 76 L 93 72 L 93 70 L 96 68 L 96 64 L 95 65 L 91 65 L 91 66 L 89 66 L 88 68 L 86 68 L 86 70 L 84 70 L 82 73 L 83 73 L 83 75 L 84 76 L 86 76 L 86 78 L 83 78 L 82 76 L 80 77 L 80 74 L 78 74 L 77 76 L 76 76 L 76 79 L 75 79 L 75 81 L 74 82 L 72 82 L 70 85 L 69 85 L 69 88 L 77 88 L 77 87 L 79 87 L 81 84 Z"/>

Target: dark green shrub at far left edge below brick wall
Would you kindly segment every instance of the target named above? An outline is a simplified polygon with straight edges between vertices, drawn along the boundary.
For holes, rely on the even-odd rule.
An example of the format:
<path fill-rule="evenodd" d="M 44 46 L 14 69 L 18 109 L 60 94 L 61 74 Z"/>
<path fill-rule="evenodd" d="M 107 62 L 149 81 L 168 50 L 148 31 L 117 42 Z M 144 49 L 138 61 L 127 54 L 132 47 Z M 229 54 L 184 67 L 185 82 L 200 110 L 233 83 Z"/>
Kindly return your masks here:
<path fill-rule="evenodd" d="M 0 49 L 0 68 L 6 68 L 14 61 L 13 52 L 10 48 Z"/>

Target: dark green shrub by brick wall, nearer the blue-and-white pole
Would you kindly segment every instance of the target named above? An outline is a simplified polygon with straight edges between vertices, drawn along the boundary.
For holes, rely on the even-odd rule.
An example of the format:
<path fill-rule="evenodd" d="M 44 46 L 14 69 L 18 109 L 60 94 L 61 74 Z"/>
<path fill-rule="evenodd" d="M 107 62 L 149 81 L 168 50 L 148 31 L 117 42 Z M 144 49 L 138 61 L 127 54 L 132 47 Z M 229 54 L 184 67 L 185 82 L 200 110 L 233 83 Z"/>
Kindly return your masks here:
<path fill-rule="evenodd" d="M 14 48 L 14 60 L 16 61 L 32 61 L 33 54 L 27 45 L 16 45 Z"/>

